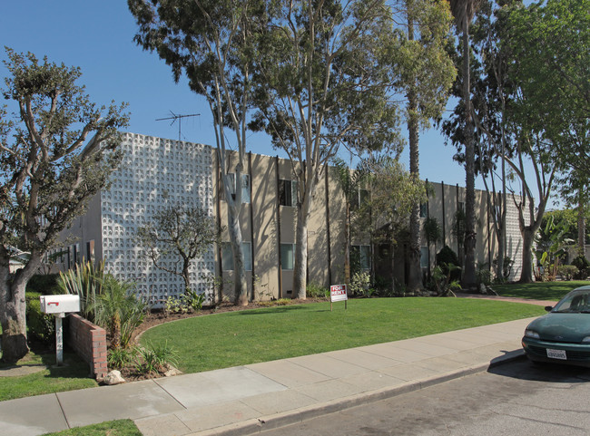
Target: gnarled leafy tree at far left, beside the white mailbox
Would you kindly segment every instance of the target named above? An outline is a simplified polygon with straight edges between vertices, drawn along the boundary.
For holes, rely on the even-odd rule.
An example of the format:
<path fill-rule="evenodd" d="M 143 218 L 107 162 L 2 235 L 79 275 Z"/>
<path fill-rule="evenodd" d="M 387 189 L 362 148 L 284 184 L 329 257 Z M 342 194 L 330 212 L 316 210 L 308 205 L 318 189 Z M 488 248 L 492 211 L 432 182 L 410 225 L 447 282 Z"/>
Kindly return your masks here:
<path fill-rule="evenodd" d="M 28 353 L 25 286 L 59 233 L 84 213 L 119 162 L 123 105 L 98 107 L 77 84 L 78 68 L 6 49 L 2 93 L 15 106 L 0 111 L 0 323 L 5 362 Z M 89 141 L 88 138 L 94 134 Z M 85 144 L 85 145 L 84 145 Z M 9 272 L 11 246 L 30 253 Z"/>

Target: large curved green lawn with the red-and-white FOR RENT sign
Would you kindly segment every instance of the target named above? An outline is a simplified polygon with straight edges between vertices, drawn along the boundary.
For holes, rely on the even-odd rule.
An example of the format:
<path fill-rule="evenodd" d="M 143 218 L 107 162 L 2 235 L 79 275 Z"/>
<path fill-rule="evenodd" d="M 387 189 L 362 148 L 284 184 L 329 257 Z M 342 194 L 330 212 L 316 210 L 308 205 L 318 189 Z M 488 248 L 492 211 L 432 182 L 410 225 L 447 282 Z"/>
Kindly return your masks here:
<path fill-rule="evenodd" d="M 179 367 L 198 373 L 397 341 L 543 315 L 543 307 L 464 298 L 371 298 L 199 316 L 158 325 L 142 343 L 167 340 Z"/>

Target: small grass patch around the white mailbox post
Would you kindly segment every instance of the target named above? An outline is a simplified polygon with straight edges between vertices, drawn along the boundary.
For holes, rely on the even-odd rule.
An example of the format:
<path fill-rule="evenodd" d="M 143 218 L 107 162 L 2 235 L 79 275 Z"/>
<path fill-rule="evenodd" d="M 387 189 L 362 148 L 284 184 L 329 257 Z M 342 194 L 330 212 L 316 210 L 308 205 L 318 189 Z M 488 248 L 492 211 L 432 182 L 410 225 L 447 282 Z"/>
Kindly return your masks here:
<path fill-rule="evenodd" d="M 45 364 L 49 367 L 39 373 L 0 378 L 0 401 L 98 386 L 95 380 L 88 377 L 88 364 L 76 354 L 64 353 L 64 366 L 54 366 L 55 354 L 33 352 L 17 364 Z M 9 366 L 0 363 L 0 368 Z"/>

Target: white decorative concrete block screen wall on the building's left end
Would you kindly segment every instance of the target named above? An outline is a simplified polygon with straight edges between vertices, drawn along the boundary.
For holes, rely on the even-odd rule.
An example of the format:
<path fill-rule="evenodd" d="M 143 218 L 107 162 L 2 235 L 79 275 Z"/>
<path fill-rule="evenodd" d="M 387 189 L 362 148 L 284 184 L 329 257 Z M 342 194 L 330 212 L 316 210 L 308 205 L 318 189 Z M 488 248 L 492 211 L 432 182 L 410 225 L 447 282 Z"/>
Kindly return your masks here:
<path fill-rule="evenodd" d="M 137 293 L 152 301 L 180 296 L 184 292 L 182 277 L 153 266 L 135 235 L 167 203 L 201 207 L 212 216 L 211 147 L 125 133 L 121 151 L 120 168 L 113 172 L 111 188 L 101 196 L 105 268 L 121 280 L 133 281 Z M 173 269 L 177 261 L 177 257 L 169 257 L 162 264 Z M 211 247 L 192 264 L 193 290 L 206 292 L 202 275 L 213 273 Z"/>

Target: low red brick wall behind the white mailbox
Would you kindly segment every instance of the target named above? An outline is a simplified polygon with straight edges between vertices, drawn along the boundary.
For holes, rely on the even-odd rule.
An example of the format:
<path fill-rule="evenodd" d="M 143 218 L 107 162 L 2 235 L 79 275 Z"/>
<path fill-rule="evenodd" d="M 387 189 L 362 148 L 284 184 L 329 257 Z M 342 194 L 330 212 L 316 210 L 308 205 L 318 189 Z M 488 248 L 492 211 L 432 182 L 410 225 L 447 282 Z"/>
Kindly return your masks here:
<path fill-rule="evenodd" d="M 96 380 L 106 376 L 106 331 L 80 315 L 69 315 L 68 344 L 90 365 Z"/>

